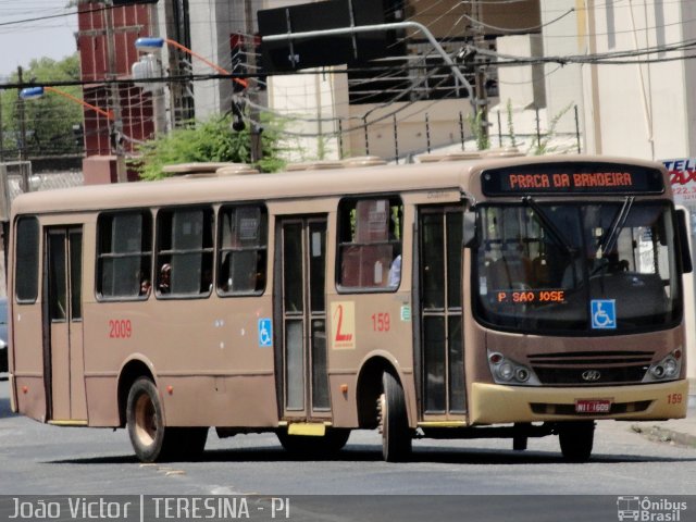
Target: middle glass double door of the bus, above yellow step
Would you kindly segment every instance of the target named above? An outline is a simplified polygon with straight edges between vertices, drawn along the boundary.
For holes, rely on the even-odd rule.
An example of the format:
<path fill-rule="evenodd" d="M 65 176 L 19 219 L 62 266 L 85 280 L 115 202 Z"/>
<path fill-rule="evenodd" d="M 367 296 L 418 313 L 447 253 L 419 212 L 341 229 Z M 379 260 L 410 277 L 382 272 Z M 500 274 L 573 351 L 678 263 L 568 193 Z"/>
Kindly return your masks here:
<path fill-rule="evenodd" d="M 282 417 L 331 418 L 326 370 L 326 217 L 276 224 L 276 375 Z"/>

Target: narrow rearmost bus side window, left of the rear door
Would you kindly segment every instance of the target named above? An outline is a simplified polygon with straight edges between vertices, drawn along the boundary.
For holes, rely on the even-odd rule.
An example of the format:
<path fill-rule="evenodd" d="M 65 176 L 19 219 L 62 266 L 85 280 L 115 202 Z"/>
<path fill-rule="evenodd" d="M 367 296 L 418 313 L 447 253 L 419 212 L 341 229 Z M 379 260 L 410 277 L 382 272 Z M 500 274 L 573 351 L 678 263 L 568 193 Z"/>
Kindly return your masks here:
<path fill-rule="evenodd" d="M 39 222 L 20 217 L 16 229 L 14 293 L 17 302 L 34 302 L 39 288 Z"/>

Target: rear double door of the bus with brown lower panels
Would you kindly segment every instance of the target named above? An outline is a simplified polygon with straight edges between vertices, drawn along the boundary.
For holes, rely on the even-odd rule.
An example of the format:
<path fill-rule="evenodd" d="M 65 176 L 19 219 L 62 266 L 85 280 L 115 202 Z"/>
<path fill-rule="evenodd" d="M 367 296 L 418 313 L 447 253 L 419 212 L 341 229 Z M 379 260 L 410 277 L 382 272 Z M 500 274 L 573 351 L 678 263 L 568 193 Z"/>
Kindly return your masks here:
<path fill-rule="evenodd" d="M 48 420 L 86 422 L 82 323 L 82 226 L 46 229 L 44 346 Z"/>

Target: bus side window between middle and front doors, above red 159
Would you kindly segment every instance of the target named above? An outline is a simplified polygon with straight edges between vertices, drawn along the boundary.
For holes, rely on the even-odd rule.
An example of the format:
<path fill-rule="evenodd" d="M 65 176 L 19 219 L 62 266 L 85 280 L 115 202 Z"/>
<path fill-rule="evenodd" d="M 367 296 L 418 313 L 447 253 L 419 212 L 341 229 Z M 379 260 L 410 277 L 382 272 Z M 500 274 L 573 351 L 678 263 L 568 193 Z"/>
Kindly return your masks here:
<path fill-rule="evenodd" d="M 395 290 L 401 281 L 399 198 L 344 200 L 338 209 L 338 286 Z"/>

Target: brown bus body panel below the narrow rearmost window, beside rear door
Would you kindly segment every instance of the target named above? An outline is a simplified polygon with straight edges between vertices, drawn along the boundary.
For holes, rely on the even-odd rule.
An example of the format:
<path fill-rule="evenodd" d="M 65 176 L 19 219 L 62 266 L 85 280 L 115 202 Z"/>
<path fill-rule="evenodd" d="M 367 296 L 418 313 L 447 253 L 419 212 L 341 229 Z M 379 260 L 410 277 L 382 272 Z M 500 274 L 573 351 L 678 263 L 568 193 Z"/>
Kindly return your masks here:
<path fill-rule="evenodd" d="M 41 303 L 12 307 L 12 366 L 18 412 L 47 420 Z"/>

